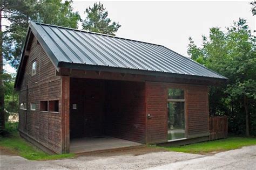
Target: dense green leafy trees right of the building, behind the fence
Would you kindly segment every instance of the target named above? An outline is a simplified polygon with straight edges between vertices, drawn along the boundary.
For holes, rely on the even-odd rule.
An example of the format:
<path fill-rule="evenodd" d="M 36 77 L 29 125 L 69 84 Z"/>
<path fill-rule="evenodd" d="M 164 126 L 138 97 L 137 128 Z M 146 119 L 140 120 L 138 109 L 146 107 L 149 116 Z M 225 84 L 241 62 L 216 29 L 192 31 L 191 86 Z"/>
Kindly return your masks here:
<path fill-rule="evenodd" d="M 247 133 L 245 125 L 250 124 L 251 134 L 256 135 L 255 49 L 255 37 L 241 18 L 226 31 L 212 27 L 209 39 L 203 36 L 202 47 L 196 46 L 192 38 L 188 45 L 193 60 L 228 78 L 226 84 L 211 87 L 210 114 L 227 115 L 234 133 Z"/>

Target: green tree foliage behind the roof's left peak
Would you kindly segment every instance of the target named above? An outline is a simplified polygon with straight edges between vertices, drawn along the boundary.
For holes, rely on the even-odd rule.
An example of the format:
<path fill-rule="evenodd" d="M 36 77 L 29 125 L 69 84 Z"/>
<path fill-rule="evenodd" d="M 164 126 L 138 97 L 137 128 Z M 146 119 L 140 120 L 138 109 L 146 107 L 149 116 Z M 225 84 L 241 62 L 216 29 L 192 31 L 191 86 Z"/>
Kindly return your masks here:
<path fill-rule="evenodd" d="M 17 68 L 30 20 L 59 26 L 78 27 L 80 16 L 72 11 L 72 1 L 1 0 L 4 17 L 10 22 L 3 33 L 3 54 Z"/>

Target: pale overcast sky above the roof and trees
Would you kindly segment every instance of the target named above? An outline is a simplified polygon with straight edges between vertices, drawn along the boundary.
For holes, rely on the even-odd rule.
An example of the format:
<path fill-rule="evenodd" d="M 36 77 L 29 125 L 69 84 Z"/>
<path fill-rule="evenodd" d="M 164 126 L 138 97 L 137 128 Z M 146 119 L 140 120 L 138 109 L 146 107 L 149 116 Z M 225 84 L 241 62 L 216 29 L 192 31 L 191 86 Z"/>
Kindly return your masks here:
<path fill-rule="evenodd" d="M 250 2 L 109 2 L 101 1 L 109 18 L 122 25 L 117 37 L 164 45 L 181 55 L 188 56 L 188 38 L 200 46 L 202 35 L 208 36 L 211 27 L 225 30 L 233 21 L 247 20 L 256 30 Z M 92 1 L 73 0 L 73 10 L 85 19 L 84 11 Z M 79 26 L 81 29 L 81 26 Z M 6 65 L 8 72 L 15 72 Z"/>

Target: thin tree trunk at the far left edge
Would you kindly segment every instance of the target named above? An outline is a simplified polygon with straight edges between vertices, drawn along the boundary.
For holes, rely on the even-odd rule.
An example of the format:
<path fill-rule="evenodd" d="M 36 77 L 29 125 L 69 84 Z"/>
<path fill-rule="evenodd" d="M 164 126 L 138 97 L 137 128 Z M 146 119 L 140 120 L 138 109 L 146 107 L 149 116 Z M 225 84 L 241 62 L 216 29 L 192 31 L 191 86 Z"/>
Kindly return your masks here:
<path fill-rule="evenodd" d="M 0 9 L 0 133 L 5 128 L 4 119 L 4 84 L 3 84 L 3 33 L 2 33 L 2 6 Z"/>

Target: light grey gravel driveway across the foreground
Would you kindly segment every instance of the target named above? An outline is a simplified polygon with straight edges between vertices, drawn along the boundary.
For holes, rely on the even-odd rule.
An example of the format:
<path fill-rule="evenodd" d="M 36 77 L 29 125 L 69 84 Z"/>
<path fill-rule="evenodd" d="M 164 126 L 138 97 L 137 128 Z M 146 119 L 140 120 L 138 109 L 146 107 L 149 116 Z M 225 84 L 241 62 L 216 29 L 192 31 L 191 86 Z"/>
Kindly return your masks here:
<path fill-rule="evenodd" d="M 1 155 L 0 169 L 255 169 L 256 146 L 206 156 L 164 152 L 152 148 L 145 152 L 123 151 L 83 155 L 73 159 L 30 161 Z"/>

